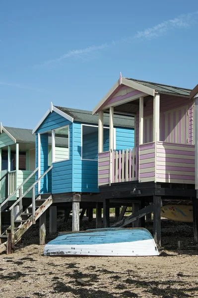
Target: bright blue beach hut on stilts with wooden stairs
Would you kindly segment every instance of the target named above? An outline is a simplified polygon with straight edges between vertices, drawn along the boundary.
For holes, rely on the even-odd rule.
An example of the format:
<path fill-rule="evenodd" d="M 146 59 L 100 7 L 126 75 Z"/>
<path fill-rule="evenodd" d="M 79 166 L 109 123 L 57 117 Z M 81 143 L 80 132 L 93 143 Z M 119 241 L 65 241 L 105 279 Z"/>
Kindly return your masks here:
<path fill-rule="evenodd" d="M 103 151 L 109 151 L 109 114 L 103 118 Z M 134 146 L 134 117 L 117 115 L 114 118 L 115 151 Z M 88 210 L 93 217 L 96 208 L 96 226 L 101 227 L 103 201 L 98 189 L 98 115 L 91 111 L 53 106 L 34 128 L 35 170 L 23 181 L 30 182 L 25 192 L 20 190 L 17 200 L 9 207 L 11 212 L 11 248 L 36 220 L 40 219 L 40 243 L 45 243 L 46 210 L 49 208 L 50 233 L 56 232 L 57 207 L 67 216 L 72 209 L 72 230 L 79 230 L 80 217 Z M 102 161 L 103 162 L 103 161 Z M 106 162 L 103 162 L 104 171 Z M 23 185 L 15 189 L 17 193 Z M 31 194 L 32 202 L 25 209 L 23 197 Z M 8 202 L 13 193 L 4 200 Z M 8 233 L 9 234 L 9 233 Z M 6 248 L 7 231 L 0 251 Z"/>

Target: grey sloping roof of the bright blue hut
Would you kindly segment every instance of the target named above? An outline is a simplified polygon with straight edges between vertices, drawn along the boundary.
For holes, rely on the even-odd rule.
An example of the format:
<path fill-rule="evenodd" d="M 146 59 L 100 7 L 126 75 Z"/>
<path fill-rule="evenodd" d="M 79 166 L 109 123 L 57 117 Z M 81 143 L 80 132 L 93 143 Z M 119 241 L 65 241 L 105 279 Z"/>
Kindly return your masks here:
<path fill-rule="evenodd" d="M 80 123 L 98 124 L 98 114 L 92 115 L 91 111 L 70 109 L 59 106 L 56 106 L 56 108 L 72 117 L 73 121 Z M 109 125 L 108 114 L 104 114 L 104 125 Z M 114 115 L 114 126 L 133 128 L 134 119 L 132 118 L 132 116 Z"/>

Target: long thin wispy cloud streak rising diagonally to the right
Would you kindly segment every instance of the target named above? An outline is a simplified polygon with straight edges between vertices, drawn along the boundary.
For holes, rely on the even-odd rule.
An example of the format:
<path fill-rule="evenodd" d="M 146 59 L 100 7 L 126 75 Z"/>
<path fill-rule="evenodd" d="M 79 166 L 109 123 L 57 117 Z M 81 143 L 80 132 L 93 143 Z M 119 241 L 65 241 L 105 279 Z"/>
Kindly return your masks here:
<path fill-rule="evenodd" d="M 173 29 L 190 28 L 192 24 L 197 20 L 197 17 L 198 17 L 198 11 L 193 13 L 182 14 L 176 18 L 163 21 L 153 27 L 146 28 L 142 31 L 137 31 L 134 35 L 124 37 L 120 40 L 112 41 L 110 43 L 105 43 L 98 46 L 90 46 L 84 49 L 68 51 L 66 54 L 63 54 L 58 58 L 47 60 L 40 64 L 34 65 L 34 68 L 40 69 L 40 68 L 46 68 L 46 67 L 49 68 L 52 66 L 57 66 L 58 64 L 63 63 L 66 59 L 90 60 L 94 55 L 98 54 L 100 51 L 107 48 L 115 47 L 121 43 L 134 42 L 137 39 L 149 40 L 149 39 L 160 37 Z"/>

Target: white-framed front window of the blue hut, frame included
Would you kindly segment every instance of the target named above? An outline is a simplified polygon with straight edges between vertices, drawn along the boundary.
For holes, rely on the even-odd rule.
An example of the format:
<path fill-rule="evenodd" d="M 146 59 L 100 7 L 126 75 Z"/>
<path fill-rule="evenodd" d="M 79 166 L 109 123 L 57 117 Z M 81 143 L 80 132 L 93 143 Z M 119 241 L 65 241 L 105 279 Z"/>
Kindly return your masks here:
<path fill-rule="evenodd" d="M 69 126 L 52 131 L 52 160 L 56 162 L 66 159 L 69 159 Z"/>

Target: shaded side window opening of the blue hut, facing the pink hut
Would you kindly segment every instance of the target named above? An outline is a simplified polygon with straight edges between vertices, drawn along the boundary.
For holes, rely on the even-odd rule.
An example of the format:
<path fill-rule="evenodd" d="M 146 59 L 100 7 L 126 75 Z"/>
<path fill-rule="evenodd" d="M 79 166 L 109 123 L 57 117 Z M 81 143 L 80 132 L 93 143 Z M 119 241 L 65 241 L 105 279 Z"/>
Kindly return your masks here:
<path fill-rule="evenodd" d="M 104 147 L 103 150 L 109 150 L 109 128 L 103 131 Z M 82 159 L 98 160 L 98 127 L 91 125 L 82 125 Z"/>

